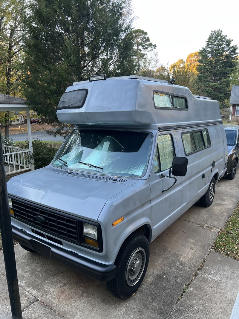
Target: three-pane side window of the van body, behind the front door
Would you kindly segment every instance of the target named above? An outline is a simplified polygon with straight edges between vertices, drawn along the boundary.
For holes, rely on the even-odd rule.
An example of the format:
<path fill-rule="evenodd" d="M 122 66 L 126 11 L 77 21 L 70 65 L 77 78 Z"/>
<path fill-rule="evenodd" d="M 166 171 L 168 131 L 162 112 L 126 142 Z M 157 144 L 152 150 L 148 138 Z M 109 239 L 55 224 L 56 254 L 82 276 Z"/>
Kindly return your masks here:
<path fill-rule="evenodd" d="M 210 137 L 206 129 L 183 133 L 182 140 L 186 155 L 211 146 Z"/>

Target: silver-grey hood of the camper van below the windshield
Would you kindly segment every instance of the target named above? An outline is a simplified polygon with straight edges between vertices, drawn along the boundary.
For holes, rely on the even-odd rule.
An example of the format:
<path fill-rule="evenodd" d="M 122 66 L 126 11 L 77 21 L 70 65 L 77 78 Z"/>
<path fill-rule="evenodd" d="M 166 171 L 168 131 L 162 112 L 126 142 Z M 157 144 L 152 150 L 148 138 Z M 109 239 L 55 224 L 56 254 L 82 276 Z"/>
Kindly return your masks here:
<path fill-rule="evenodd" d="M 98 181 L 40 168 L 12 177 L 9 195 L 97 221 L 107 200 L 129 186 L 117 181 Z M 134 184 L 136 180 L 132 181 Z M 114 185 L 113 185 L 114 184 Z"/>

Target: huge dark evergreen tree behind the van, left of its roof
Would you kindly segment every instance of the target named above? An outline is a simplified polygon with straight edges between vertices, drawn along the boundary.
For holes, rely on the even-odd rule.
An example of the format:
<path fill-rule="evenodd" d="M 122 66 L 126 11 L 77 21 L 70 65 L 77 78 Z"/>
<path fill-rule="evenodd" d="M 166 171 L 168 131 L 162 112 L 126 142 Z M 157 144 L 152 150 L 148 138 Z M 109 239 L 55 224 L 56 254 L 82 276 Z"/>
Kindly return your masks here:
<path fill-rule="evenodd" d="M 39 115 L 56 121 L 58 101 L 74 81 L 133 71 L 130 6 L 131 0 L 35 1 L 25 21 L 24 94 Z"/>

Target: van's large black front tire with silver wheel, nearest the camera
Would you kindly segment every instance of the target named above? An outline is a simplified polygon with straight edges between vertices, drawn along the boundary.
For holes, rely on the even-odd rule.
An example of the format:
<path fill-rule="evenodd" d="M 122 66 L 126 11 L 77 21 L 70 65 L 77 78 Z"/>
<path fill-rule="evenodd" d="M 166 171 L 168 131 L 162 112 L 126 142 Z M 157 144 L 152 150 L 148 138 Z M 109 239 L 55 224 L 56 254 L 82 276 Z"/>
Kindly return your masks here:
<path fill-rule="evenodd" d="M 149 243 L 140 233 L 131 234 L 120 248 L 115 260 L 116 276 L 106 282 L 108 290 L 117 298 L 126 299 L 141 285 L 148 268 Z"/>

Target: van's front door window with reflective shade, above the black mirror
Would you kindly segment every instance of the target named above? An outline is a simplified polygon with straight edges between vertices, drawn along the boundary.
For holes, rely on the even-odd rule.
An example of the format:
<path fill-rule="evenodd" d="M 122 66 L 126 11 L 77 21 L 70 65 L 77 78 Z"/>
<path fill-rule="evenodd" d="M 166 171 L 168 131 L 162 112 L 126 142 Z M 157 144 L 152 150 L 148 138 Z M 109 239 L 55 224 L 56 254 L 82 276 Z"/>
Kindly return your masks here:
<path fill-rule="evenodd" d="M 175 157 L 171 135 L 159 135 L 157 138 L 157 145 L 161 171 L 164 171 L 165 169 L 168 169 L 170 168 L 170 166 L 172 166 L 173 158 Z"/>

